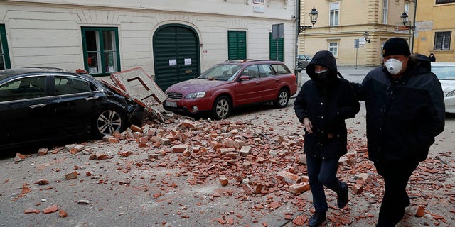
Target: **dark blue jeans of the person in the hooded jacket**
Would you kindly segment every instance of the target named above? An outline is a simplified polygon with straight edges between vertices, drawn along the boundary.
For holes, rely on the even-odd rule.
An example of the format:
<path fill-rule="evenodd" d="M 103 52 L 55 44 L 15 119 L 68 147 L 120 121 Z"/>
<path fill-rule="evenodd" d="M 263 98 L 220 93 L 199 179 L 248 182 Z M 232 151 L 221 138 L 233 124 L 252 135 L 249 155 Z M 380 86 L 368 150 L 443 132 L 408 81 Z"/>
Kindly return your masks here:
<path fill-rule="evenodd" d="M 311 193 L 313 194 L 313 206 L 317 213 L 326 213 L 328 206 L 324 186 L 332 189 L 337 194 L 343 192 L 343 186 L 336 177 L 339 158 L 322 159 L 306 155 L 306 167 Z"/>

